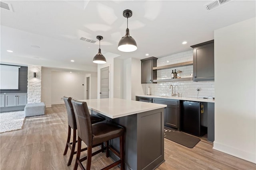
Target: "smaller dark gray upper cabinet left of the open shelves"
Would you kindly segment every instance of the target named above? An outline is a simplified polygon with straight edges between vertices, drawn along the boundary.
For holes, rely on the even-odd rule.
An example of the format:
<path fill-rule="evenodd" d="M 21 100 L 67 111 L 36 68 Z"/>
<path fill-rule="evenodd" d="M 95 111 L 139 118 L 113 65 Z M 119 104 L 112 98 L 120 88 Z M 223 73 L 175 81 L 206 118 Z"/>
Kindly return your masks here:
<path fill-rule="evenodd" d="M 153 70 L 153 67 L 157 65 L 156 57 L 149 57 L 142 59 L 141 61 L 141 83 L 156 83 L 153 80 L 156 80 L 156 70 Z"/>

